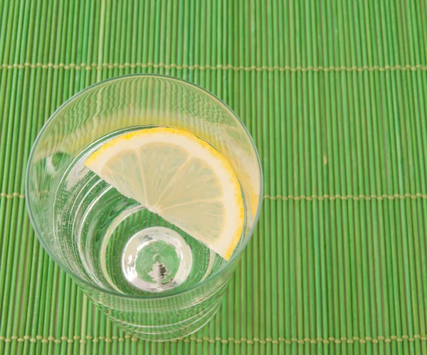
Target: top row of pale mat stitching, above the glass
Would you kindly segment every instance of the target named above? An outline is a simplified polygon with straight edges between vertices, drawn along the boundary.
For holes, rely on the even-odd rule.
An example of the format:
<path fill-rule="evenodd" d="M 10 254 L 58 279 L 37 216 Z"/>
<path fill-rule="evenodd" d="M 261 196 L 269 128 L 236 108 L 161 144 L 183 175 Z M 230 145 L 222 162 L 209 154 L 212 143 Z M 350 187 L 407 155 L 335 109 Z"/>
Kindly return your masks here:
<path fill-rule="evenodd" d="M 314 72 L 341 72 L 341 71 L 347 71 L 347 72 L 363 72 L 363 71 L 386 71 L 386 70 L 427 70 L 427 65 L 421 65 L 421 64 L 416 64 L 416 65 L 400 65 L 400 64 L 396 64 L 396 65 L 384 65 L 384 67 L 381 67 L 379 65 L 373 65 L 373 66 L 369 66 L 369 65 L 364 65 L 362 67 L 357 67 L 357 66 L 351 66 L 351 67 L 347 67 L 345 65 L 340 65 L 340 66 L 334 66 L 331 65 L 329 67 L 324 67 L 324 66 L 318 66 L 318 67 L 312 67 L 312 66 L 307 66 L 307 67 L 301 67 L 301 66 L 297 66 L 295 68 L 292 68 L 290 66 L 278 66 L 275 65 L 273 67 L 269 67 L 267 65 L 263 65 L 263 66 L 256 66 L 256 65 L 251 65 L 251 66 L 244 66 L 244 65 L 231 65 L 231 64 L 217 64 L 217 65 L 199 65 L 199 64 L 194 64 L 194 65 L 188 65 L 188 64 L 182 64 L 182 65 L 177 65 L 177 64 L 165 64 L 165 63 L 102 63 L 102 64 L 97 64 L 97 63 L 80 63 L 80 64 L 75 64 L 75 63 L 69 63 L 69 64 L 65 64 L 65 63 L 58 63 L 58 64 L 54 64 L 54 63 L 23 63 L 23 64 L 19 64 L 19 63 L 13 63 L 13 64 L 8 64 L 8 63 L 4 63 L 0 66 L 0 69 L 4 68 L 4 69 L 14 69 L 14 68 L 18 68 L 18 69 L 23 69 L 23 68 L 43 68 L 43 69 L 48 69 L 48 68 L 53 68 L 53 69 L 75 69 L 75 70 L 102 70 L 104 68 L 108 68 L 108 69 L 113 69 L 113 68 L 120 68 L 120 69 L 124 69 L 124 68 L 165 68 L 165 69 L 189 69 L 189 70 L 195 70 L 195 69 L 199 69 L 199 70 L 206 70 L 206 69 L 210 69 L 210 70 L 236 70 L 236 71 L 290 71 L 290 72 L 308 72 L 308 71 L 314 71 Z"/>

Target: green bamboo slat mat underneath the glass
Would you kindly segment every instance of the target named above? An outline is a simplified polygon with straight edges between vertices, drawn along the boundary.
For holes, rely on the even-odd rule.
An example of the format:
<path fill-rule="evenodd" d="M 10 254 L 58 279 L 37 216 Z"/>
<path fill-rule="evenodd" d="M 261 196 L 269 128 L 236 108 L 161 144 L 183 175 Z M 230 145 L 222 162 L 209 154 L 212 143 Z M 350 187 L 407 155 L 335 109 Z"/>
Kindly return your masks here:
<path fill-rule="evenodd" d="M 427 354 L 426 18 L 426 0 L 0 0 L 0 354 Z M 159 344 L 58 270 L 23 199 L 51 112 L 129 73 L 221 97 L 265 174 L 220 311 Z"/>

